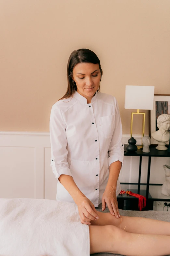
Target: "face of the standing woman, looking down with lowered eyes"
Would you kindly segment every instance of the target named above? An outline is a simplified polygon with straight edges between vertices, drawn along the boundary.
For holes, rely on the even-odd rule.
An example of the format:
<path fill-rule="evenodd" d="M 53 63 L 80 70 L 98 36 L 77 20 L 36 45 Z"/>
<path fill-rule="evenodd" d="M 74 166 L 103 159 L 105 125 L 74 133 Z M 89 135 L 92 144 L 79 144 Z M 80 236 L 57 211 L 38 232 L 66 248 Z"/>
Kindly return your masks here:
<path fill-rule="evenodd" d="M 98 90 L 100 78 L 99 64 L 78 63 L 73 68 L 72 79 L 76 82 L 77 92 L 87 99 L 91 99 Z"/>

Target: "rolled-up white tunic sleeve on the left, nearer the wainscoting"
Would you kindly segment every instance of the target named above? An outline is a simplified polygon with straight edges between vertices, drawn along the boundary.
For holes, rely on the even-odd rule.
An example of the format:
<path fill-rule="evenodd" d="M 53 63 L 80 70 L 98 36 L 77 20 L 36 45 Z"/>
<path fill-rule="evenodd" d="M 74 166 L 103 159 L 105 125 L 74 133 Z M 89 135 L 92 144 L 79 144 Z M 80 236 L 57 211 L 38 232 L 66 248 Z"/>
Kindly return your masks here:
<path fill-rule="evenodd" d="M 62 111 L 57 105 L 53 105 L 50 113 L 50 166 L 57 180 L 61 174 L 72 176 L 67 162 L 68 151 L 66 149 L 67 137 L 65 128 L 66 124 Z"/>

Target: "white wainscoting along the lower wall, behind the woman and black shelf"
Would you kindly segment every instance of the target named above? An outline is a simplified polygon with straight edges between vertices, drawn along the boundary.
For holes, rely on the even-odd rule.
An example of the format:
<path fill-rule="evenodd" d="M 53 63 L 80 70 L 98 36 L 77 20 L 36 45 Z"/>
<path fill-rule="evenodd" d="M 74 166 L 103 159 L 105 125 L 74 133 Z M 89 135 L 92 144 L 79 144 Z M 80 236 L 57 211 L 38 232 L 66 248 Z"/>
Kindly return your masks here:
<path fill-rule="evenodd" d="M 123 134 L 128 144 L 129 134 Z M 142 135 L 134 135 L 136 144 Z M 56 200 L 56 185 L 50 167 L 49 132 L 0 132 L 0 197 L 46 198 Z M 165 157 L 152 157 L 150 183 L 163 183 L 163 165 L 170 164 Z M 147 182 L 148 157 L 142 158 L 141 183 Z M 139 157 L 124 157 L 120 182 L 138 182 Z M 127 188 L 128 189 L 128 188 Z"/>

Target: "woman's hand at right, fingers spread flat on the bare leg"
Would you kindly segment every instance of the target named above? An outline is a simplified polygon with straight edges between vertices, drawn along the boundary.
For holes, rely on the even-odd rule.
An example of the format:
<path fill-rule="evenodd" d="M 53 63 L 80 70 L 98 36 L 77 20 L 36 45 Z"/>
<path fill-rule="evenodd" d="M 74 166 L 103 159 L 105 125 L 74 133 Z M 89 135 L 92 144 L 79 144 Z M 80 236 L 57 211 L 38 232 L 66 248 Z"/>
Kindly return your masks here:
<path fill-rule="evenodd" d="M 102 196 L 102 211 L 105 210 L 106 204 L 108 206 L 108 209 L 112 215 L 115 215 L 115 217 L 119 218 L 119 208 L 118 208 L 118 200 L 116 196 L 116 191 L 112 188 L 106 188 L 105 192 Z M 118 216 L 119 215 L 119 216 Z"/>

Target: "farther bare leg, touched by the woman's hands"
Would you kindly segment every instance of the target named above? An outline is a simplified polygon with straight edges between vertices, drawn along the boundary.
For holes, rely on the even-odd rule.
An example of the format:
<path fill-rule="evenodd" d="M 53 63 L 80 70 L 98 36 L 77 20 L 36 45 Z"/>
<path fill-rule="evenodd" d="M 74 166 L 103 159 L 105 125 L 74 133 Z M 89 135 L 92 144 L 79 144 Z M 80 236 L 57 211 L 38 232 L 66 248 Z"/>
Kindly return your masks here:
<path fill-rule="evenodd" d="M 128 216 L 116 218 L 111 213 L 97 213 L 99 220 L 91 221 L 91 225 L 114 225 L 118 228 L 121 226 L 122 230 L 126 227 L 126 232 L 138 234 L 170 235 L 170 222 L 167 221 Z"/>

